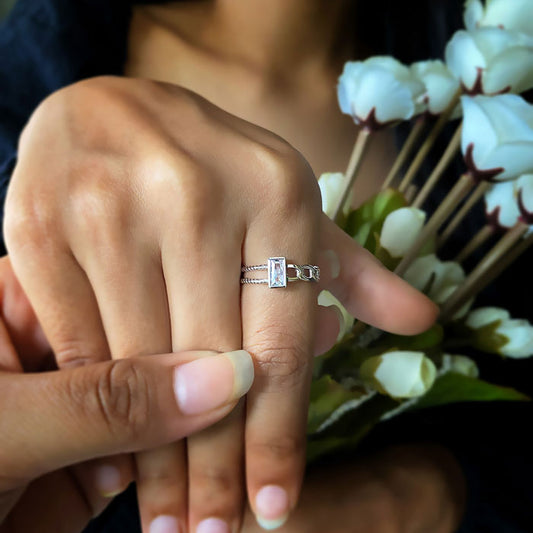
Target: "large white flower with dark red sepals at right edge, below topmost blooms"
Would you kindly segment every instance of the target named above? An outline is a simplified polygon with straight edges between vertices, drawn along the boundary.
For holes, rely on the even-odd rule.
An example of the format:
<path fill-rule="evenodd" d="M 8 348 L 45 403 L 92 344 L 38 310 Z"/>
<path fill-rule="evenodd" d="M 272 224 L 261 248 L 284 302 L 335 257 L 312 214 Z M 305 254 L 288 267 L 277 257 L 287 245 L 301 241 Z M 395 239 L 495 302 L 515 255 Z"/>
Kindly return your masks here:
<path fill-rule="evenodd" d="M 463 96 L 462 151 L 478 179 L 533 172 L 533 106 L 520 96 Z"/>

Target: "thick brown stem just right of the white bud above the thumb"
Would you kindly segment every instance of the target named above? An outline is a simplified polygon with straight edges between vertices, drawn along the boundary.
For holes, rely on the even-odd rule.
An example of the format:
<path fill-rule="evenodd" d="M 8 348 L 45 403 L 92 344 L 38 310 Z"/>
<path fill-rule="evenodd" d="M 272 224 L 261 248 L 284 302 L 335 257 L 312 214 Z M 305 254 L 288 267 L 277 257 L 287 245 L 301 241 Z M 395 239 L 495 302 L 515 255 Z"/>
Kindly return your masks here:
<path fill-rule="evenodd" d="M 474 187 L 474 180 L 470 174 L 463 174 L 457 183 L 453 186 L 452 190 L 441 202 L 439 208 L 435 211 L 433 216 L 429 219 L 428 223 L 424 226 L 420 235 L 416 239 L 411 249 L 405 254 L 400 264 L 394 271 L 398 276 L 403 276 L 405 271 L 409 268 L 413 260 L 417 257 L 422 247 L 426 244 L 428 239 L 433 237 L 446 219 L 450 216 L 450 213 L 454 211 L 465 196 Z"/>

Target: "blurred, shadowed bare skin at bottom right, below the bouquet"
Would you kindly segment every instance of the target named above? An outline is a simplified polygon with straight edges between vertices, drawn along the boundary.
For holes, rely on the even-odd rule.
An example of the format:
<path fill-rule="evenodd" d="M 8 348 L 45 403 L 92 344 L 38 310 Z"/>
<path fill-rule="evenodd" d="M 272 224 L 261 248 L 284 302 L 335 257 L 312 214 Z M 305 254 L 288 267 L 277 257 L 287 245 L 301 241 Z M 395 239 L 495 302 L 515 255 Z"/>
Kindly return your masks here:
<path fill-rule="evenodd" d="M 449 451 L 395 446 L 312 467 L 279 533 L 454 533 L 464 500 L 463 474 Z M 248 513 L 242 533 L 260 531 Z"/>

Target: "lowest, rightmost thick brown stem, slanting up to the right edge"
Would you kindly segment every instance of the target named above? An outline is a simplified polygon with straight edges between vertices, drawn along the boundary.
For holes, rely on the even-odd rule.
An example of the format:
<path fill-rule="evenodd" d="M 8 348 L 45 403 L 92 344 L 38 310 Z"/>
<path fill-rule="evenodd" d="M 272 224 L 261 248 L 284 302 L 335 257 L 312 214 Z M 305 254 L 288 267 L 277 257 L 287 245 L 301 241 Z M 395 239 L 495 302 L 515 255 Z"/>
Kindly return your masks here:
<path fill-rule="evenodd" d="M 476 268 L 467 276 L 464 283 L 446 300 L 441 309 L 441 321 L 450 320 L 465 302 L 478 294 L 480 290 L 484 289 L 488 283 L 502 272 L 503 269 L 499 262 L 506 258 L 511 248 L 522 238 L 528 228 L 529 226 L 526 224 L 518 223 L 487 252 Z"/>

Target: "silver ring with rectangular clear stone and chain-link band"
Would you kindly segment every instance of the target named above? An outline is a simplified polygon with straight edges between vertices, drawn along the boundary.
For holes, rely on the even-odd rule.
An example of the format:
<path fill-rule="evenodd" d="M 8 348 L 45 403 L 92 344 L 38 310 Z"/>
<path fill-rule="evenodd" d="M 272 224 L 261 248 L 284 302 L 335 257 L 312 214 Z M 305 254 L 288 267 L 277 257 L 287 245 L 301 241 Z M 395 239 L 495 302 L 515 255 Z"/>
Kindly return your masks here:
<path fill-rule="evenodd" d="M 294 275 L 289 275 L 289 270 Z M 266 278 L 248 278 L 247 272 L 266 271 Z M 265 265 L 243 266 L 241 268 L 242 284 L 268 284 L 270 289 L 286 287 L 291 281 L 320 281 L 320 268 L 315 265 L 295 265 L 287 263 L 285 257 L 269 257 Z"/>

